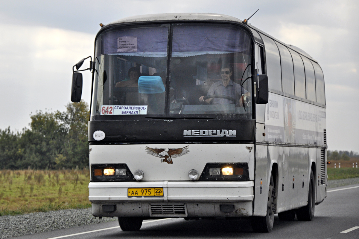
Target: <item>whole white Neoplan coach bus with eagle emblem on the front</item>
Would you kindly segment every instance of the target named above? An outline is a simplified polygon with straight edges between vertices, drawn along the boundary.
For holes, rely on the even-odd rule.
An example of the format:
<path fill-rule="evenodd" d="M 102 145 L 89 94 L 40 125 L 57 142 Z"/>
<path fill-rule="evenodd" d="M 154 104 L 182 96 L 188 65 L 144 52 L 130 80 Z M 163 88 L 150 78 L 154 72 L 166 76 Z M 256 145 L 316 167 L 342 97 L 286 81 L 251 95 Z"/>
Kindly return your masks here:
<path fill-rule="evenodd" d="M 150 218 L 251 217 L 265 232 L 276 213 L 312 220 L 326 197 L 316 60 L 220 14 L 100 25 L 88 68 L 94 216 L 128 231 Z M 85 59 L 73 68 L 73 102 Z"/>

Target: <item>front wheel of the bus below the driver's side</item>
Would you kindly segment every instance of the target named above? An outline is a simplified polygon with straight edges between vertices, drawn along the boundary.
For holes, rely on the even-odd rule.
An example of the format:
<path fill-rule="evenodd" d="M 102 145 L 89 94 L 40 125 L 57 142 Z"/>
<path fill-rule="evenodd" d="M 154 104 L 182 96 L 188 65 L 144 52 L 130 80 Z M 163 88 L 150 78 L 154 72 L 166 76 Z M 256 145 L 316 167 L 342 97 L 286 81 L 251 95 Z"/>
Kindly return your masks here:
<path fill-rule="evenodd" d="M 255 232 L 270 232 L 273 229 L 274 214 L 275 214 L 275 187 L 273 175 L 270 176 L 268 201 L 267 201 L 267 215 L 252 216 L 251 225 Z"/>

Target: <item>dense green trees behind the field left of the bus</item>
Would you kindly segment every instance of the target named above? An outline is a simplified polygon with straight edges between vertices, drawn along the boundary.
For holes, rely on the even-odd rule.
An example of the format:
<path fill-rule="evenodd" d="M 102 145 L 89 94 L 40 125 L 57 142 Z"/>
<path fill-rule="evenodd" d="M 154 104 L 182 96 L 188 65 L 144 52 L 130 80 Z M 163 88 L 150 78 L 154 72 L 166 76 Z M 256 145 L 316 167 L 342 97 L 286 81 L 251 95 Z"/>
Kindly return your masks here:
<path fill-rule="evenodd" d="M 30 129 L 0 129 L 1 169 L 85 168 L 89 162 L 89 106 L 81 100 L 64 112 L 36 111 Z"/>

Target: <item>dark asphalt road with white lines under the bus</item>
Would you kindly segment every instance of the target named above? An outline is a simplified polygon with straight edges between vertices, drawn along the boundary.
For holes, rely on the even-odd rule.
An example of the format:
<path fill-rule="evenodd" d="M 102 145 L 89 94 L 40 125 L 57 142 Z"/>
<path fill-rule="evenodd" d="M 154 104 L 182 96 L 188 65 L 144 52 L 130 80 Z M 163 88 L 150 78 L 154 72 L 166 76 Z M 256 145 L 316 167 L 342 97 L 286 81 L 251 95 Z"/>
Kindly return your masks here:
<path fill-rule="evenodd" d="M 354 188 L 350 188 L 354 187 Z M 345 189 L 344 189 L 345 188 Z M 342 189 L 342 190 L 340 190 Z M 356 229 L 353 230 L 353 228 Z M 343 233 L 351 229 L 347 233 Z M 27 239 L 78 238 L 359 238 L 358 185 L 330 188 L 315 207 L 313 221 L 274 219 L 271 233 L 253 233 L 248 218 L 238 220 L 159 219 L 144 221 L 137 232 L 122 231 L 117 221 L 19 236 Z"/>

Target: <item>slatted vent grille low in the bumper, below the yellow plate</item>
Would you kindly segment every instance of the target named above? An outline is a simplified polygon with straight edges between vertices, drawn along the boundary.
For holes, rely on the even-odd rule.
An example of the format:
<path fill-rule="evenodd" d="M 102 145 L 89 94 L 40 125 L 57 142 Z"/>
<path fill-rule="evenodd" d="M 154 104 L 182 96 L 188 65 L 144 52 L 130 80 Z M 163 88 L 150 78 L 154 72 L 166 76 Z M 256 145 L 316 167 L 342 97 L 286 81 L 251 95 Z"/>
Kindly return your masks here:
<path fill-rule="evenodd" d="M 185 204 L 151 204 L 150 216 L 187 216 Z"/>

